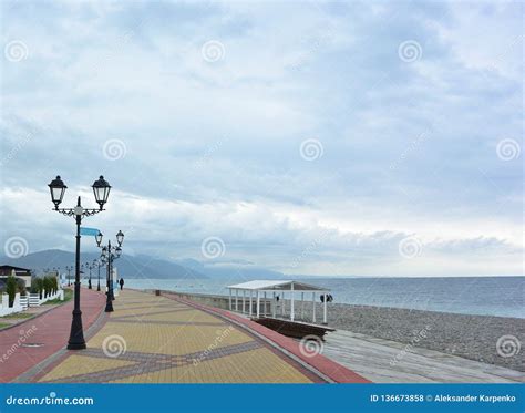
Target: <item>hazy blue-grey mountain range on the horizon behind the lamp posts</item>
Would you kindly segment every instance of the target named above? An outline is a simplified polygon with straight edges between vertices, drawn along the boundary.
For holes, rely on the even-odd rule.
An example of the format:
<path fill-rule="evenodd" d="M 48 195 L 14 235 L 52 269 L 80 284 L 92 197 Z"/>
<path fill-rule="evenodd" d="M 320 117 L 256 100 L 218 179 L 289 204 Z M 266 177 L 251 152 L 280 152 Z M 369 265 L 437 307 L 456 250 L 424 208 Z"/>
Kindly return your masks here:
<path fill-rule="evenodd" d="M 82 252 L 82 262 L 93 261 L 99 258 L 96 252 Z M 12 265 L 34 270 L 37 273 L 44 268 L 52 269 L 60 267 L 61 272 L 65 273 L 65 267 L 74 265 L 74 254 L 62 251 L 60 249 L 48 249 L 44 251 L 28 254 L 21 258 L 0 257 L 0 264 Z M 124 278 L 148 278 L 148 279 L 202 279 L 207 278 L 204 273 L 194 268 L 187 268 L 176 262 L 150 257 L 150 256 L 126 256 L 114 261 L 119 276 Z M 96 269 L 93 270 L 96 275 Z"/>

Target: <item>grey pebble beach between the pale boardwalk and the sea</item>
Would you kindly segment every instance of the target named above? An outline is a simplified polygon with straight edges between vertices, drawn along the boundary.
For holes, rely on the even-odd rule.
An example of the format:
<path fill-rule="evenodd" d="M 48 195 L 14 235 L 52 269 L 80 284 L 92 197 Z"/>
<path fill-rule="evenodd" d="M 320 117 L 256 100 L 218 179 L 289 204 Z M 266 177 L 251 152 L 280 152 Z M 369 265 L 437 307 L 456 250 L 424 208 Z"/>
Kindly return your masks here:
<path fill-rule="evenodd" d="M 286 308 L 289 310 L 288 303 Z M 319 322 L 320 303 L 316 312 Z M 296 314 L 299 321 L 300 307 Z M 303 316 L 311 321 L 310 306 L 305 306 Z M 330 303 L 328 324 L 525 372 L 524 319 Z"/>

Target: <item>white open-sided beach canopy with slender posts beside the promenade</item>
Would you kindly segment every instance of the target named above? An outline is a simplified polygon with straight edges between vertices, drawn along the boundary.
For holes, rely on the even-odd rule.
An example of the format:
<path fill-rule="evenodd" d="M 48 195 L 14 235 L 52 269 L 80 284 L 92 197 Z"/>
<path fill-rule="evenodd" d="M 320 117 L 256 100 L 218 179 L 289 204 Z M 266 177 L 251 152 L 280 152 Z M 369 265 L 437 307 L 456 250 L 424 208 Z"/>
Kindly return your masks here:
<path fill-rule="evenodd" d="M 272 293 L 272 306 L 271 306 L 271 316 L 276 318 L 276 295 L 280 293 L 282 298 L 281 303 L 281 313 L 285 314 L 285 292 L 289 293 L 290 300 L 290 320 L 294 321 L 296 317 L 295 309 L 295 297 L 296 293 L 300 293 L 301 301 L 301 312 L 305 304 L 305 293 L 311 293 L 311 304 L 312 304 L 312 322 L 316 322 L 316 293 L 327 293 L 330 290 L 328 288 L 312 286 L 306 282 L 290 281 L 290 280 L 255 280 L 248 282 L 236 283 L 234 286 L 228 286 L 229 289 L 229 310 L 239 312 L 239 291 L 243 291 L 241 306 L 243 309 L 240 312 L 253 316 L 253 300 L 256 300 L 256 316 L 260 317 L 260 299 L 265 300 L 265 306 L 267 301 L 267 293 Z M 235 302 L 233 302 L 235 291 Z M 247 301 L 247 291 L 249 293 L 249 306 L 248 312 L 245 311 L 245 303 Z M 262 295 L 262 297 L 261 297 Z M 255 296 L 255 297 L 254 297 Z M 322 308 L 322 323 L 327 323 L 327 299 L 325 297 L 323 308 Z"/>

